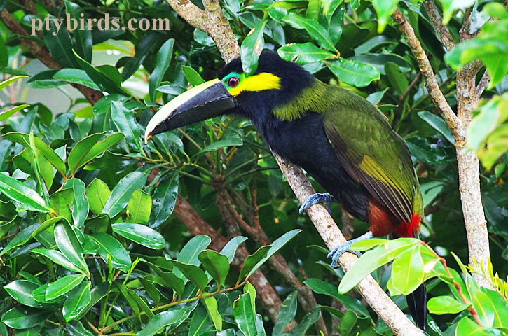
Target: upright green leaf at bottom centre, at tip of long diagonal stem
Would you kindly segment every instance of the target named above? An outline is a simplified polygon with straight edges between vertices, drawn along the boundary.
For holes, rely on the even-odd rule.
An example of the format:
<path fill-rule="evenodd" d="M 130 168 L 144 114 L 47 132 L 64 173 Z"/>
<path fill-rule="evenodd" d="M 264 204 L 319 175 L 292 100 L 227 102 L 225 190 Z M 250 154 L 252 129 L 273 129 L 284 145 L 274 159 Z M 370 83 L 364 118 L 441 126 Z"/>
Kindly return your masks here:
<path fill-rule="evenodd" d="M 245 336 L 258 335 L 256 328 L 256 307 L 254 307 L 255 297 L 256 290 L 254 289 L 254 286 L 246 285 L 244 287 L 244 294 L 240 295 L 233 304 L 235 323 L 238 326 L 238 329 L 240 329 Z"/>

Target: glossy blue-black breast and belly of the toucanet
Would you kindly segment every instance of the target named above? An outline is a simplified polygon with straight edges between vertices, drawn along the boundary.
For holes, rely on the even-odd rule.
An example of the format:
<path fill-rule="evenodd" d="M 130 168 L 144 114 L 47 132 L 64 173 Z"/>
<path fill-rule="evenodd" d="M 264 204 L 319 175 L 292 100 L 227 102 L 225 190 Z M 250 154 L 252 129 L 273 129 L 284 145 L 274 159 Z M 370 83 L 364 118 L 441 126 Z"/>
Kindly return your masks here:
<path fill-rule="evenodd" d="M 270 148 L 305 169 L 352 216 L 366 221 L 369 194 L 345 172 L 324 133 L 322 117 L 307 113 L 297 120 L 271 121 L 256 125 Z"/>

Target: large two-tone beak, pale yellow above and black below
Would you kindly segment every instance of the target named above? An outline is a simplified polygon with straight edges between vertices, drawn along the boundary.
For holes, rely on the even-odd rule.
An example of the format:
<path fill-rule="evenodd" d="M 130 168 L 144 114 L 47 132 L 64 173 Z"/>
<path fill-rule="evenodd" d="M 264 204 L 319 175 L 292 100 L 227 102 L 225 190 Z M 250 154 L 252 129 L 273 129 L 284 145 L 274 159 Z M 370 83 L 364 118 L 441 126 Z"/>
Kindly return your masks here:
<path fill-rule="evenodd" d="M 145 144 L 156 134 L 221 116 L 237 106 L 218 79 L 202 83 L 165 104 L 151 118 L 144 133 Z"/>

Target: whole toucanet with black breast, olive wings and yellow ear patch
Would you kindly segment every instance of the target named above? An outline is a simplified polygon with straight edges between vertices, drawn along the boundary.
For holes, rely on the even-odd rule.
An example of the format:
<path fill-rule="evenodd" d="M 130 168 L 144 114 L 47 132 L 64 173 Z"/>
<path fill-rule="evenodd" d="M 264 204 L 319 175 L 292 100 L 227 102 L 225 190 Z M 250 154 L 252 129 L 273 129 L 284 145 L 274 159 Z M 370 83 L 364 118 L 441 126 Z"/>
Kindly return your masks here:
<path fill-rule="evenodd" d="M 255 73 L 247 75 L 240 59 L 233 59 L 218 79 L 165 104 L 149 121 L 145 141 L 226 113 L 251 120 L 274 153 L 305 169 L 327 190 L 329 194 L 311 196 L 301 211 L 318 202 L 339 202 L 369 223 L 362 239 L 418 235 L 423 200 L 411 155 L 383 113 L 366 99 L 264 51 Z M 331 252 L 333 267 L 351 244 Z M 406 298 L 414 321 L 425 329 L 425 283 Z"/>

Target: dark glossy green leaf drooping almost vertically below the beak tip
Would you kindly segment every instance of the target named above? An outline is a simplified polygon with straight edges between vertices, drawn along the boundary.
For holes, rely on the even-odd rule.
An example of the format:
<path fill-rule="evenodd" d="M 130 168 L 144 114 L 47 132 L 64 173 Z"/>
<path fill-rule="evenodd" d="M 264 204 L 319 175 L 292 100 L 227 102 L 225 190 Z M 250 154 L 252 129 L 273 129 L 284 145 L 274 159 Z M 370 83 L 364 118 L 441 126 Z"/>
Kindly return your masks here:
<path fill-rule="evenodd" d="M 151 228 L 157 228 L 170 217 L 178 197 L 178 172 L 165 174 L 153 192 L 152 210 L 149 218 Z"/>

